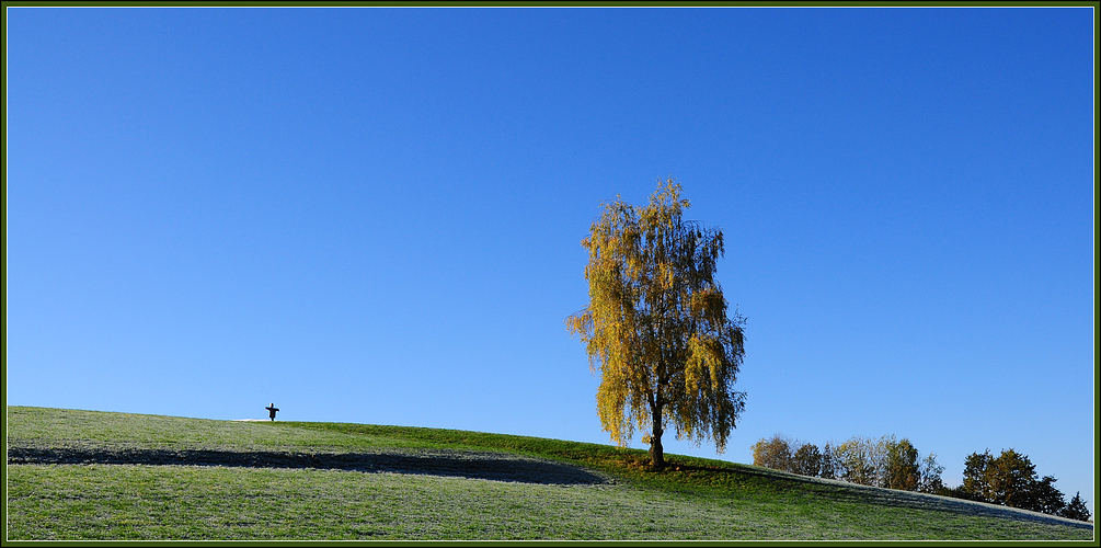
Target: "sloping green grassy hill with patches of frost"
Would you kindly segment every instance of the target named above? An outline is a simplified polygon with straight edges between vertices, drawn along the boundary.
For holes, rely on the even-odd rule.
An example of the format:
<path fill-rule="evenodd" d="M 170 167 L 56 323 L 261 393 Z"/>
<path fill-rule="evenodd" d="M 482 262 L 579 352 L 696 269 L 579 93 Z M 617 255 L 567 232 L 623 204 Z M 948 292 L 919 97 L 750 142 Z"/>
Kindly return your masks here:
<path fill-rule="evenodd" d="M 8 407 L 8 539 L 1059 539 L 1093 524 L 460 430 Z"/>

